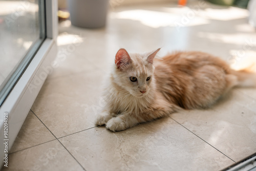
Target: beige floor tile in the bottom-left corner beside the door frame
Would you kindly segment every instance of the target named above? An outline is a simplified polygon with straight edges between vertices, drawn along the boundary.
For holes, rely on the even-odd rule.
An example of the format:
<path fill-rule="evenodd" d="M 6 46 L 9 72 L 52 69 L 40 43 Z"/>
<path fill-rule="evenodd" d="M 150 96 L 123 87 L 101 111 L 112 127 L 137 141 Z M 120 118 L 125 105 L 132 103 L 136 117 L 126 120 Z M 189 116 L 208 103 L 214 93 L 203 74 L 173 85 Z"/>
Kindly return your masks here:
<path fill-rule="evenodd" d="M 83 170 L 57 140 L 40 144 L 8 156 L 8 167 L 2 170 Z"/>

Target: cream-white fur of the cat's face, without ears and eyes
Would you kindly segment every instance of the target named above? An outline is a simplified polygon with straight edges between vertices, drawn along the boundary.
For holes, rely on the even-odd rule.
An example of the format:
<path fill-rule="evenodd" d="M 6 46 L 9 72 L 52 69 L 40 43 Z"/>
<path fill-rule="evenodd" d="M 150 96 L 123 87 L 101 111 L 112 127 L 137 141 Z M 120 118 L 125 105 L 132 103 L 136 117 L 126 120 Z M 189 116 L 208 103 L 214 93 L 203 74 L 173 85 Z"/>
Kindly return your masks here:
<path fill-rule="evenodd" d="M 131 60 L 123 69 L 115 68 L 115 82 L 129 92 L 131 95 L 141 98 L 150 92 L 151 82 L 154 74 L 153 63 L 147 61 L 149 54 L 130 54 Z M 136 77 L 132 82 L 130 77 Z M 147 81 L 146 79 L 150 77 Z M 142 93 L 143 92 L 143 93 Z"/>

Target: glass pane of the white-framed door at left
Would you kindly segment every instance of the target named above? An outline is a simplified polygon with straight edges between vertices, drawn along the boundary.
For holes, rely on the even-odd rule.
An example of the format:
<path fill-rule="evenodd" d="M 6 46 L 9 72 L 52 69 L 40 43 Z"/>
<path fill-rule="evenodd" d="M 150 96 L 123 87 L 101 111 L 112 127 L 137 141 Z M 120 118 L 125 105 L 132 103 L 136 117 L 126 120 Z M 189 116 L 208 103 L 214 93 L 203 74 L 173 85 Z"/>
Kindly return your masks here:
<path fill-rule="evenodd" d="M 0 105 L 44 39 L 44 1 L 0 0 Z"/>

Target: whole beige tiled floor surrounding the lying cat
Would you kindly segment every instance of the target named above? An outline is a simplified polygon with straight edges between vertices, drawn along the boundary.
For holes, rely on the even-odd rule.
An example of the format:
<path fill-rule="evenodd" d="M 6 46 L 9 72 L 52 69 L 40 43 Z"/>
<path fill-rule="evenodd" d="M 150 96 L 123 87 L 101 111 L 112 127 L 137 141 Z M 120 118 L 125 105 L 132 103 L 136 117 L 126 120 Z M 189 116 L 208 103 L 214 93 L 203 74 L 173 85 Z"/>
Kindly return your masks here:
<path fill-rule="evenodd" d="M 234 89 L 210 109 L 175 113 L 122 132 L 94 126 L 101 86 L 119 48 L 162 47 L 160 56 L 200 50 L 234 66 L 251 63 L 256 34 L 246 10 L 210 7 L 197 2 L 190 8 L 115 7 L 105 29 L 60 23 L 57 67 L 3 170 L 220 170 L 255 153 L 256 89 Z"/>

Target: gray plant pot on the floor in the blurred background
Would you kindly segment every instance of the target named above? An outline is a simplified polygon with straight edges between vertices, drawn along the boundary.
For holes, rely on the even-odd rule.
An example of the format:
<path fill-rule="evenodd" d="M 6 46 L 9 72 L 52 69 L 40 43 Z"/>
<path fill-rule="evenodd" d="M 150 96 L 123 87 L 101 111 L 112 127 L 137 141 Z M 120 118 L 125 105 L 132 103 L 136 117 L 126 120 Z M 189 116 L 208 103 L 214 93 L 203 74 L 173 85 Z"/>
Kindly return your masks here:
<path fill-rule="evenodd" d="M 68 0 L 71 24 L 83 28 L 100 28 L 106 24 L 109 0 Z"/>

